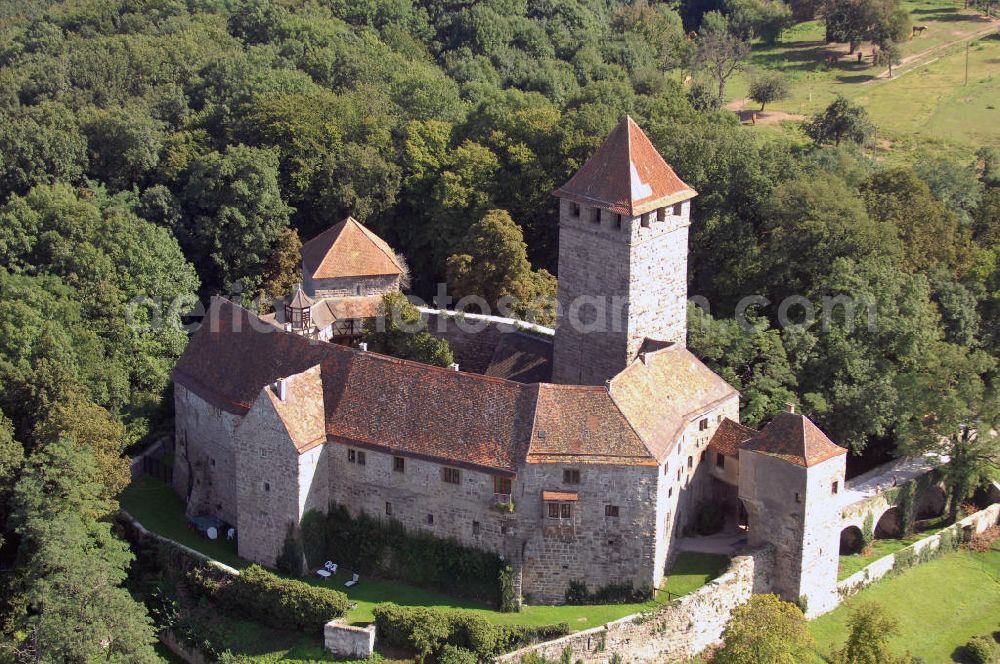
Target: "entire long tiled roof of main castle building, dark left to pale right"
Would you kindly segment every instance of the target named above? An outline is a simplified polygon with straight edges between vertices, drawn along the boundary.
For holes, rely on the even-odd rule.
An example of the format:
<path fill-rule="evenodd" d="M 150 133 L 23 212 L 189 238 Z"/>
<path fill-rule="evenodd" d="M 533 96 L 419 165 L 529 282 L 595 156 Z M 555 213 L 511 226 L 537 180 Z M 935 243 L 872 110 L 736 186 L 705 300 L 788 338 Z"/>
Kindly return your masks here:
<path fill-rule="evenodd" d="M 327 440 L 504 474 L 526 461 L 655 466 L 692 417 L 736 394 L 685 349 L 643 358 L 608 387 L 523 384 L 308 339 L 216 298 L 174 380 L 243 415 L 290 377 L 275 410 L 300 449 L 322 411 Z M 306 403 L 320 392 L 321 409 Z"/>

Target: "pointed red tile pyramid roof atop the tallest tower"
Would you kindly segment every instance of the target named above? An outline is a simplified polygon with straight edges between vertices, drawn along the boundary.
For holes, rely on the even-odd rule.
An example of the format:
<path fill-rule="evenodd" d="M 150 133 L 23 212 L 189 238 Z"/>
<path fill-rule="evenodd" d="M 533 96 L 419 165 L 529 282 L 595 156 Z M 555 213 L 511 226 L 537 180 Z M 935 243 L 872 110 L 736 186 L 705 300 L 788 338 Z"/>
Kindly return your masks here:
<path fill-rule="evenodd" d="M 677 177 L 639 125 L 626 115 L 554 195 L 636 216 L 698 194 Z"/>

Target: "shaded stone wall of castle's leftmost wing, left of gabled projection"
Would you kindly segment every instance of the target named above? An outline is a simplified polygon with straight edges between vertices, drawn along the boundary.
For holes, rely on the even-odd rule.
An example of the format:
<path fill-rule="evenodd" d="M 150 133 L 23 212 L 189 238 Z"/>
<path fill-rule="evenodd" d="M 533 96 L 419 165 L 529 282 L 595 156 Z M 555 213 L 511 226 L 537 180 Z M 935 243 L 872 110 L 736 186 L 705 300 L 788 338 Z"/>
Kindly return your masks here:
<path fill-rule="evenodd" d="M 174 383 L 174 491 L 187 515 L 237 523 L 236 428 L 242 418 Z"/>

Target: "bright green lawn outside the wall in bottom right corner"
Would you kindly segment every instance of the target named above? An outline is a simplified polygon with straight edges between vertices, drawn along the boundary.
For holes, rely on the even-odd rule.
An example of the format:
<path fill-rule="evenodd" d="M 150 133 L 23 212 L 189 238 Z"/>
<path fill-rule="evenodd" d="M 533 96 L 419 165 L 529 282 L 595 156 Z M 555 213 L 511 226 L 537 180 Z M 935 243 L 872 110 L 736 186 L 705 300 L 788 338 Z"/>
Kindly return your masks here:
<path fill-rule="evenodd" d="M 882 604 L 899 620 L 900 634 L 891 642 L 899 653 L 951 662 L 970 638 L 1000 629 L 1000 542 L 986 553 L 956 551 L 879 581 L 814 620 L 816 661 L 843 645 L 847 618 L 860 602 Z"/>

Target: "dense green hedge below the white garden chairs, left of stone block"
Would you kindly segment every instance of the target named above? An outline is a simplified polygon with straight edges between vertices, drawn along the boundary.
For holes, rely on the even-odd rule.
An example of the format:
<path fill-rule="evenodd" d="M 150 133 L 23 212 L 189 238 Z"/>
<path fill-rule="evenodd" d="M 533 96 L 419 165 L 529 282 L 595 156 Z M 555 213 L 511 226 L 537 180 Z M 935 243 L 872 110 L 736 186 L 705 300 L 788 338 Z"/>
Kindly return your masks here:
<path fill-rule="evenodd" d="M 213 578 L 199 568 L 188 575 L 188 581 L 197 594 L 223 609 L 281 629 L 322 633 L 323 625 L 350 608 L 347 595 L 340 591 L 283 579 L 259 565 L 225 578 Z"/>

